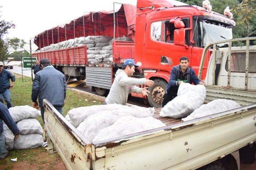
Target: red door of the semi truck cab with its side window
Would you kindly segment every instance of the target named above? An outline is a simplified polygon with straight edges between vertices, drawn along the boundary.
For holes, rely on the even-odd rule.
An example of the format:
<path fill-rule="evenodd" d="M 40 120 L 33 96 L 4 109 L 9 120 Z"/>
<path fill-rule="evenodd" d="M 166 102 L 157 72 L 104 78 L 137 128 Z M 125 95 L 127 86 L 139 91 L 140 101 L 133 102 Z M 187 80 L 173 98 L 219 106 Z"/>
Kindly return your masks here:
<path fill-rule="evenodd" d="M 179 64 L 179 59 L 186 56 L 191 59 L 192 48 L 190 42 L 191 16 L 179 17 L 185 24 L 186 44 L 188 46 L 174 45 L 174 23 L 171 19 L 149 21 L 145 34 L 144 68 L 171 71 L 171 67 Z M 171 64 L 171 65 L 170 65 Z"/>

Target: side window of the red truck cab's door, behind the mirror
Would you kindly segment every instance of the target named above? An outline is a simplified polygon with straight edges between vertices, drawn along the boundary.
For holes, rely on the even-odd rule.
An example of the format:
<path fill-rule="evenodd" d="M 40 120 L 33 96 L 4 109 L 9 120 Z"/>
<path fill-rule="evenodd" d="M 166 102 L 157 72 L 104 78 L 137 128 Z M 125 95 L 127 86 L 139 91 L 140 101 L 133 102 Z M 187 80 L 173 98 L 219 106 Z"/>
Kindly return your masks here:
<path fill-rule="evenodd" d="M 185 28 L 190 27 L 189 18 L 182 19 Z M 151 23 L 150 33 L 151 39 L 155 41 L 162 41 L 166 43 L 174 43 L 174 30 L 178 29 L 174 27 L 174 23 L 170 23 L 170 20 L 157 21 Z M 185 43 L 189 45 L 190 30 L 186 30 Z"/>

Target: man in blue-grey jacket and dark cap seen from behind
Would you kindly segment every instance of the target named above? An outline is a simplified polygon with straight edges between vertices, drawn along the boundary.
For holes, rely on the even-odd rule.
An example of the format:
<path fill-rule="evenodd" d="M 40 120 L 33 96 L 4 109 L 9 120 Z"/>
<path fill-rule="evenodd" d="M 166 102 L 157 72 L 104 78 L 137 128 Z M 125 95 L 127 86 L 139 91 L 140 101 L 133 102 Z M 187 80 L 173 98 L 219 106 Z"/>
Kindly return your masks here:
<path fill-rule="evenodd" d="M 42 119 L 45 123 L 43 99 L 47 99 L 62 114 L 62 107 L 66 97 L 66 79 L 64 74 L 51 66 L 48 59 L 42 59 L 40 65 L 42 70 L 35 74 L 31 99 L 34 108 L 41 108 Z"/>

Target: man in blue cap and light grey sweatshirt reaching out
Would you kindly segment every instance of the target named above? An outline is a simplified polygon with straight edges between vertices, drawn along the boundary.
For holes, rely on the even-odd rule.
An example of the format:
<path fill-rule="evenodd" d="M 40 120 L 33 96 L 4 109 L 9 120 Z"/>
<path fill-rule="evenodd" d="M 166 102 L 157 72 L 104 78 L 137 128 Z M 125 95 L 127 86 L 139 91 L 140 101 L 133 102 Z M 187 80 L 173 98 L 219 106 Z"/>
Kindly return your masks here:
<path fill-rule="evenodd" d="M 104 104 L 116 103 L 125 105 L 129 92 L 142 93 L 144 96 L 148 95 L 148 87 L 140 88 L 136 85 L 146 85 L 150 87 L 154 84 L 154 81 L 145 78 L 132 78 L 135 68 L 137 67 L 139 66 L 135 65 L 134 60 L 128 59 L 124 62 L 122 69 L 118 69 L 115 74 L 115 80 Z"/>

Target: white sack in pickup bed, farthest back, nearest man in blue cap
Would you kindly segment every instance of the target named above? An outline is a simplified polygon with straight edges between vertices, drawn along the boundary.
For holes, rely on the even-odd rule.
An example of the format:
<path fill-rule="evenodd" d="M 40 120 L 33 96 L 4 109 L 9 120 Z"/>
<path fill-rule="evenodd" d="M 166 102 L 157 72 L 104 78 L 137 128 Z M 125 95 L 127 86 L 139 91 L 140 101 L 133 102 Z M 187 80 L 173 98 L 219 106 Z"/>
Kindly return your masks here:
<path fill-rule="evenodd" d="M 92 105 L 85 107 L 78 107 L 68 111 L 71 124 L 76 128 L 81 122 L 83 122 L 87 117 L 99 112 L 99 111 L 109 111 L 117 109 L 125 109 L 128 106 L 121 104 L 106 104 L 106 105 Z"/>

